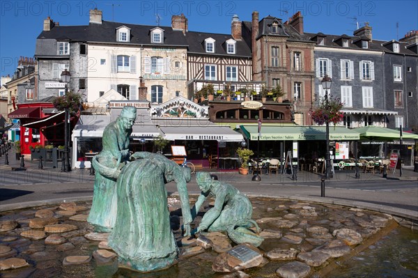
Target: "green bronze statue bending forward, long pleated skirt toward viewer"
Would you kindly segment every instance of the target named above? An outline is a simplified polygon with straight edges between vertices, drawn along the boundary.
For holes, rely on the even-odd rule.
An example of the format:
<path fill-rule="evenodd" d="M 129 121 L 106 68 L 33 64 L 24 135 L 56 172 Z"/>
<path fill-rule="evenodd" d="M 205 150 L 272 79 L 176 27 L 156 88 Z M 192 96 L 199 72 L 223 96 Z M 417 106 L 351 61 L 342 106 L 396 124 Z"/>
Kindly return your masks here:
<path fill-rule="evenodd" d="M 156 153 L 138 152 L 132 158 L 137 160 L 123 167 L 116 183 L 118 213 L 109 246 L 118 254 L 120 267 L 141 272 L 169 268 L 176 263 L 178 247 L 165 183 L 176 182 L 185 236 L 189 236 L 192 215 L 186 183 L 190 169 Z"/>

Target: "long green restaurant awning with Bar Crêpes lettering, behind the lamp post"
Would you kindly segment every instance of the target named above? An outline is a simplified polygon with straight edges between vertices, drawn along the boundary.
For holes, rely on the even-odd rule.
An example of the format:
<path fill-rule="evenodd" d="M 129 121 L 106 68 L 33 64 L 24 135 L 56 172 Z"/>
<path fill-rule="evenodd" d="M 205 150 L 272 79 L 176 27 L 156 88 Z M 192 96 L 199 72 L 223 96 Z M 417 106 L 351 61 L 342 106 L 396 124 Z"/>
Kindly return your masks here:
<path fill-rule="evenodd" d="M 250 140 L 258 139 L 258 127 L 256 125 L 241 125 L 241 130 Z M 325 127 L 323 126 L 272 126 L 261 127 L 260 140 L 263 141 L 304 141 L 325 140 Z M 330 126 L 331 141 L 359 140 L 360 134 L 355 130 L 344 127 Z"/>

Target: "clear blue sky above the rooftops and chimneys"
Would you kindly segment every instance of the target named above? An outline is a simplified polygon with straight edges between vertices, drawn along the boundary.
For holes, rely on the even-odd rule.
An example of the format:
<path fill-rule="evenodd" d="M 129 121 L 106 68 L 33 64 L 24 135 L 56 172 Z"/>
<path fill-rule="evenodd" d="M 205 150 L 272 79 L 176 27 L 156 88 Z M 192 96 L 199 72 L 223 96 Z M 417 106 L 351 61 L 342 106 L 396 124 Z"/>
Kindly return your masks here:
<path fill-rule="evenodd" d="M 304 31 L 353 35 L 364 22 L 373 28 L 373 38 L 403 38 L 418 29 L 418 1 L 0 1 L 0 74 L 12 75 L 20 56 L 32 57 L 43 20 L 50 16 L 62 25 L 88 24 L 88 11 L 97 7 L 103 19 L 131 24 L 171 25 L 171 15 L 184 13 L 190 31 L 230 33 L 231 17 L 251 21 L 272 15 L 288 20 L 298 10 L 304 16 Z M 112 13 L 113 10 L 113 13 Z M 396 29 L 396 23 L 398 29 Z"/>

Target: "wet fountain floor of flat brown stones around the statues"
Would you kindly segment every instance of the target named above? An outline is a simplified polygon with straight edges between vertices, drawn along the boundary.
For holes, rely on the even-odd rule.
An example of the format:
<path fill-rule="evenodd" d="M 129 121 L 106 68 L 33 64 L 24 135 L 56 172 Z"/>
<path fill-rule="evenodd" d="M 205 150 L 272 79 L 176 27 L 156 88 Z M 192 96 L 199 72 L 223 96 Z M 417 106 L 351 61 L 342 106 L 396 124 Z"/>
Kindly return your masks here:
<path fill-rule="evenodd" d="M 251 198 L 253 219 L 265 240 L 247 244 L 251 259 L 231 254 L 235 244 L 224 233 L 204 233 L 206 241 L 183 238 L 180 201 L 169 198 L 171 227 L 178 240 L 178 263 L 168 270 L 140 273 L 118 268 L 107 245 L 108 233 L 86 222 L 91 201 L 61 203 L 0 215 L 1 277 L 311 277 L 347 256 L 394 222 L 391 215 L 281 199 Z M 193 204 L 196 199 L 191 198 Z M 203 205 L 192 228 L 210 209 Z M 238 250 L 238 249 L 236 249 Z M 243 256 L 243 255 L 242 255 Z"/>

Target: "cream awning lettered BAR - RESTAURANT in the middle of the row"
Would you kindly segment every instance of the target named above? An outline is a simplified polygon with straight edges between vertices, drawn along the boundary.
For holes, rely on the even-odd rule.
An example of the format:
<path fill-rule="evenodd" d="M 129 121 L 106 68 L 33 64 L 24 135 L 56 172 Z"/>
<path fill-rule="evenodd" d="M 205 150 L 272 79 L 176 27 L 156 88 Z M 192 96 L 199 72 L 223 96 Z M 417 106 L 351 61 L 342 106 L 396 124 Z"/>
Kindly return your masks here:
<path fill-rule="evenodd" d="M 208 126 L 173 126 L 160 127 L 167 140 L 216 140 L 216 141 L 242 141 L 242 134 L 229 127 L 218 125 Z"/>

